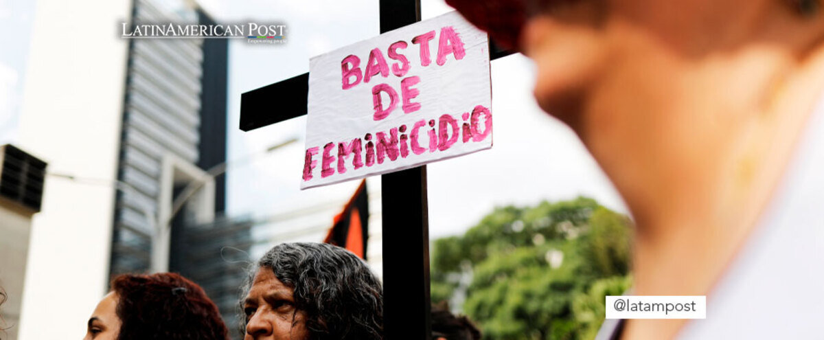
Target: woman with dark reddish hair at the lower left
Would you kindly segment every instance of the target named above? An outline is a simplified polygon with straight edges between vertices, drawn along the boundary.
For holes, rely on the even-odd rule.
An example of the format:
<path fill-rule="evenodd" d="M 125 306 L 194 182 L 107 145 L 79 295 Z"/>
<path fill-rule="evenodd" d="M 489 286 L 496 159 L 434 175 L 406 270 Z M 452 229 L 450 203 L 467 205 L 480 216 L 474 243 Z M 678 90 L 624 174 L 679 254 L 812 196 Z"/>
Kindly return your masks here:
<path fill-rule="evenodd" d="M 227 340 L 218 306 L 175 273 L 120 275 L 88 322 L 85 340 Z"/>

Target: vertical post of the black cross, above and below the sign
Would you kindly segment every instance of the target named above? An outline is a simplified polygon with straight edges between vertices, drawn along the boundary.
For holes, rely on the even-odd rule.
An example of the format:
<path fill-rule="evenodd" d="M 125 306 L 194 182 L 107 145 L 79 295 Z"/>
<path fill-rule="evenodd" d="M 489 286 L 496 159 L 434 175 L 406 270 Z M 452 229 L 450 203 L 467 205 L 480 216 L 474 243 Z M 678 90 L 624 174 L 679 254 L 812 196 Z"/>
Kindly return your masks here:
<path fill-rule="evenodd" d="M 381 33 L 420 21 L 420 0 L 381 0 Z M 426 165 L 381 176 L 383 337 L 432 337 Z"/>

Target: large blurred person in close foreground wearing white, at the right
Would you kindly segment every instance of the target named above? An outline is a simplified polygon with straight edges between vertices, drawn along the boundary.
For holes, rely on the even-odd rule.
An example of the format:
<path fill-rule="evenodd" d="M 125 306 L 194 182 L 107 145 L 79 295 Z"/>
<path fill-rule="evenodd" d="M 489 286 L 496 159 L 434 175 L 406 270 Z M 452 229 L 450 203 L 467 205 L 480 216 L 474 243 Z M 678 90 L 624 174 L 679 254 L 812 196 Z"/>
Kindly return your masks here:
<path fill-rule="evenodd" d="M 538 104 L 620 191 L 632 294 L 707 295 L 707 319 L 599 337 L 822 337 L 822 0 L 447 3 L 535 62 Z"/>

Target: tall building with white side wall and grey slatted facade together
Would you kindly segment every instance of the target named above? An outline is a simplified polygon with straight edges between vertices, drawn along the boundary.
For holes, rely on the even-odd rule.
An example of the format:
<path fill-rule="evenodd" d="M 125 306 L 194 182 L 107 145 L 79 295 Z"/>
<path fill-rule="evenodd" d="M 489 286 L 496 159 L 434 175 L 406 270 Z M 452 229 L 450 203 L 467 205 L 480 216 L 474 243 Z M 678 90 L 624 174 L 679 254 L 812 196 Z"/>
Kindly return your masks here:
<path fill-rule="evenodd" d="M 227 40 L 112 36 L 120 22 L 133 21 L 212 19 L 182 0 L 36 4 L 19 139 L 49 163 L 49 190 L 31 220 L 16 325 L 23 340 L 82 338 L 113 275 L 157 267 L 197 275 L 189 250 L 171 249 L 190 242 L 189 228 L 228 228 L 241 233 L 236 239 L 248 233 L 242 222 L 214 221 L 225 205 L 224 180 L 207 172 L 226 162 Z M 111 32 L 100 34 L 101 27 Z M 199 190 L 173 214 L 177 195 L 193 184 Z M 244 247 L 231 239 L 225 246 Z M 222 260 L 219 251 L 205 253 L 196 263 Z"/>

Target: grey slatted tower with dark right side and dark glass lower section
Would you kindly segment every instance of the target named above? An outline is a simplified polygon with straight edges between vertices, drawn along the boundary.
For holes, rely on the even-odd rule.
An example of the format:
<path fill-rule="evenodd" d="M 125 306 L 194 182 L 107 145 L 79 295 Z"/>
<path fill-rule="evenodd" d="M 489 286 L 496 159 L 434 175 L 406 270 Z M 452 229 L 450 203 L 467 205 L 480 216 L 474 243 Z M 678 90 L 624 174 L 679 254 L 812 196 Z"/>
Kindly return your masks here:
<path fill-rule="evenodd" d="M 178 5 L 135 0 L 133 21 L 216 23 L 198 7 Z M 224 248 L 248 253 L 251 224 L 220 217 L 225 177 L 207 173 L 227 162 L 227 54 L 224 39 L 129 41 L 118 170 L 126 190 L 115 201 L 110 275 L 180 272 L 234 324 L 248 261 L 228 260 Z M 170 210 L 190 186 L 202 188 Z M 170 229 L 166 245 L 154 239 L 163 228 Z M 152 258 L 158 244 L 168 249 Z"/>

